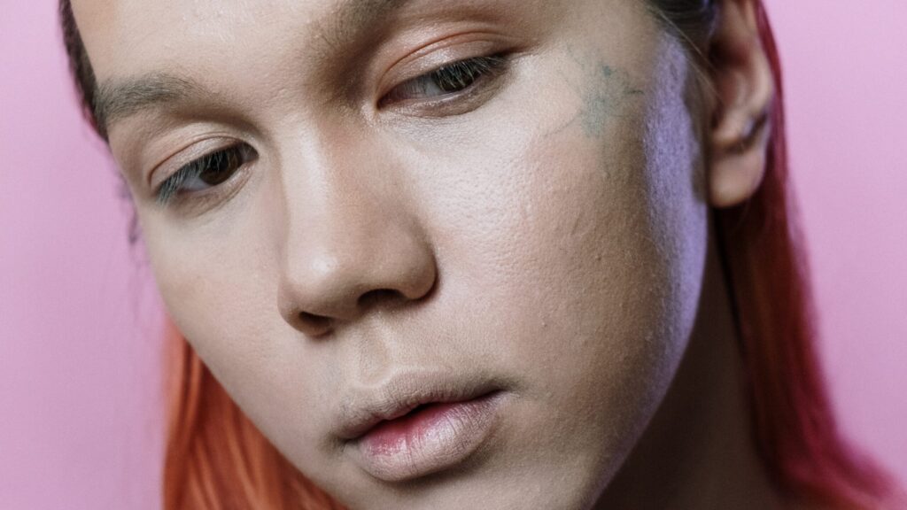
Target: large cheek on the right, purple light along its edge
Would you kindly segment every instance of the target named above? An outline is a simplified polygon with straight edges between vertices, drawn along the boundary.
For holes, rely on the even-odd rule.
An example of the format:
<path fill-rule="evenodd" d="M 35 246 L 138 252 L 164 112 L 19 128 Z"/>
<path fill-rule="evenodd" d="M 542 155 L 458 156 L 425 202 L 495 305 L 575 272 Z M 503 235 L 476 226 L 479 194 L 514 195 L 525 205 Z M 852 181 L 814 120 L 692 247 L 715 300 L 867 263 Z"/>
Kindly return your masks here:
<path fill-rule="evenodd" d="M 511 451 L 527 466 L 551 456 L 612 473 L 686 348 L 707 206 L 686 61 L 678 48 L 658 54 L 645 96 L 619 111 L 581 110 L 572 125 L 515 119 L 540 127 L 498 137 L 463 176 L 481 185 L 463 184 L 449 218 L 434 213 L 459 226 L 437 241 L 448 298 L 481 322 L 474 338 L 493 339 L 474 346 L 478 358 L 522 380 L 525 425 L 508 436 L 521 438 Z M 601 104 L 612 92 L 589 96 Z"/>

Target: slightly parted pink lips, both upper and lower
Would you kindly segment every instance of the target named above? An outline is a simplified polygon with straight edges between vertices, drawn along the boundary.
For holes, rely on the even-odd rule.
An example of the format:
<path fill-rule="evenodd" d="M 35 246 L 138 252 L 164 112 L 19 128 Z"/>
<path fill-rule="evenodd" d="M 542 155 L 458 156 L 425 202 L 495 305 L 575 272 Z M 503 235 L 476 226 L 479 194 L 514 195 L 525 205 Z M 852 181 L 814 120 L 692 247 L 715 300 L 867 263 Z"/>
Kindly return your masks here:
<path fill-rule="evenodd" d="M 462 463 L 493 433 L 507 393 L 492 381 L 458 382 L 441 373 L 407 373 L 344 399 L 336 436 L 353 461 L 385 482 Z"/>

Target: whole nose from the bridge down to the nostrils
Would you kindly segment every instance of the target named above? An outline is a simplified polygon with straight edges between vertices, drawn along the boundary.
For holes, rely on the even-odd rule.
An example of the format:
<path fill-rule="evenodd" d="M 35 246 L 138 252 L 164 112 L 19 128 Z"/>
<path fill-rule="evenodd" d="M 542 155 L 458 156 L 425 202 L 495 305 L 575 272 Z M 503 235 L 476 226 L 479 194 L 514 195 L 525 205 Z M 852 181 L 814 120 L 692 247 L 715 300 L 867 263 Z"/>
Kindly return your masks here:
<path fill-rule="evenodd" d="M 281 167 L 271 208 L 278 309 L 314 337 L 424 300 L 437 278 L 430 218 L 401 185 L 408 167 L 396 143 L 342 124 L 313 120 L 310 138 L 291 140 L 306 150 Z"/>

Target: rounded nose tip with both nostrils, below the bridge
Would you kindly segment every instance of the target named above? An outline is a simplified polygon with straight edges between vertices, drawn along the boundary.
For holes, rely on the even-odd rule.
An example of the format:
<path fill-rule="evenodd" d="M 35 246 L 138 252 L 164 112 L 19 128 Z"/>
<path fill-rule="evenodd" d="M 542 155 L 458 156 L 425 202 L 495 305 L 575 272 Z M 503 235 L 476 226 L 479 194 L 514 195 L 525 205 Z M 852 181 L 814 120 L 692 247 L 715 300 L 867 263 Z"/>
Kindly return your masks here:
<path fill-rule="evenodd" d="M 424 300 L 437 277 L 434 255 L 414 238 L 386 239 L 381 248 L 344 256 L 295 260 L 280 289 L 284 320 L 309 337 L 327 335 L 367 313 Z"/>

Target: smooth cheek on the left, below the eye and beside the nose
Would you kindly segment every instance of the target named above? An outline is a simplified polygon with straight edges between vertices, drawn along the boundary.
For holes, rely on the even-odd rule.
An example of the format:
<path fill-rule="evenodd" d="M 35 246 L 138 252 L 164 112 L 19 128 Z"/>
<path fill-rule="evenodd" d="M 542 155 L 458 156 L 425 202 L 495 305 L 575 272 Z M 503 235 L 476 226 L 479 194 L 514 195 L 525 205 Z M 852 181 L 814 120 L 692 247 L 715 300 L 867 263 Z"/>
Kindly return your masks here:
<path fill-rule="evenodd" d="M 263 249 L 271 244 L 261 228 L 267 223 L 257 214 L 236 214 L 183 227 L 154 214 L 146 214 L 142 233 L 180 332 L 238 402 L 259 395 L 263 378 L 282 383 L 274 377 L 277 353 L 289 342 L 276 334 L 282 323 L 275 260 Z"/>

